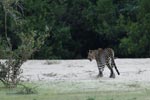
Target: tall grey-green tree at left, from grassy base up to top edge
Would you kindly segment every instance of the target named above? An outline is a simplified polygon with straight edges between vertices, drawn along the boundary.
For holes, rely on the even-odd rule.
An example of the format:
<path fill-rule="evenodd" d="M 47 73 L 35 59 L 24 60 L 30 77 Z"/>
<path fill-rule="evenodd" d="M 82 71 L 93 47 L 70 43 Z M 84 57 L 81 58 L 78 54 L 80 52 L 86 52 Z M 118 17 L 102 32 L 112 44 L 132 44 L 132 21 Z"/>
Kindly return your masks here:
<path fill-rule="evenodd" d="M 22 18 L 18 20 L 23 11 L 21 1 L 5 0 L 0 3 L 4 14 L 2 16 L 4 31 L 0 30 L 3 33 L 0 35 L 0 54 L 3 54 L 2 58 L 6 58 L 5 61 L 0 62 L 0 81 L 5 86 L 12 87 L 19 84 L 22 64 L 41 48 L 45 38 L 49 35 L 47 34 L 49 29 L 43 31 L 42 34 L 39 34 L 40 31 L 35 28 L 31 30 L 28 27 L 27 31 L 24 30 L 28 20 Z M 15 42 L 19 43 L 15 44 Z"/>

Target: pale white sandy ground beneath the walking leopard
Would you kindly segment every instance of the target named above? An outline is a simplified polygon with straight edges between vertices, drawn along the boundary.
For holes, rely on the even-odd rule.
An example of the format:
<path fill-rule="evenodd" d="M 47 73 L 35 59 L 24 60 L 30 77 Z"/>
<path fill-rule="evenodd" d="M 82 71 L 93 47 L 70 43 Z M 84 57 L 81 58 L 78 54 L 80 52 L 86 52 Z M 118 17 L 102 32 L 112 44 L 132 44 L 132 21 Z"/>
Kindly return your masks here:
<path fill-rule="evenodd" d="M 109 78 L 107 66 L 104 76 L 97 78 L 96 61 L 89 60 L 29 60 L 23 64 L 21 80 L 37 82 L 61 91 L 129 90 L 150 87 L 150 58 L 116 59 L 120 75 Z M 59 87 L 59 88 L 58 88 Z M 107 88 L 106 88 L 107 87 Z"/>

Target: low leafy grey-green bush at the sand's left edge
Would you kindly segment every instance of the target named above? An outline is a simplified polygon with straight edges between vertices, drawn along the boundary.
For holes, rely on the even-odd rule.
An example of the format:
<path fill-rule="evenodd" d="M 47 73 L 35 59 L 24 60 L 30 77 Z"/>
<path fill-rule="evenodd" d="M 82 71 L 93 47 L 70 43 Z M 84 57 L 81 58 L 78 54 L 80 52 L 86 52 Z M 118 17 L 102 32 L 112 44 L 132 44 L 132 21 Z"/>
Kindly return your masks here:
<path fill-rule="evenodd" d="M 37 51 L 44 43 L 46 35 L 37 35 L 35 32 L 20 33 L 20 45 L 17 49 L 12 50 L 8 46 L 3 53 L 7 54 L 7 60 L 0 61 L 0 81 L 6 87 L 14 87 L 20 82 L 20 74 L 23 72 L 21 66 L 31 55 Z"/>

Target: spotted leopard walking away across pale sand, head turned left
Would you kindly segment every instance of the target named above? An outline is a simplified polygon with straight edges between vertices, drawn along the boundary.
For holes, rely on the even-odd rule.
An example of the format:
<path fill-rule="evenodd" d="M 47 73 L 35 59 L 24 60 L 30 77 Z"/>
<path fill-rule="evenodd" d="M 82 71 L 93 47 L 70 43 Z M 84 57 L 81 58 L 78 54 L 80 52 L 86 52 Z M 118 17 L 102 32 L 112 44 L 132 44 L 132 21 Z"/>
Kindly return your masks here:
<path fill-rule="evenodd" d="M 116 67 L 115 61 L 114 61 L 113 49 L 111 49 L 111 48 L 106 48 L 106 49 L 98 48 L 97 50 L 89 50 L 88 59 L 90 61 L 92 61 L 93 59 L 96 60 L 98 70 L 99 70 L 98 76 L 100 76 L 100 77 L 103 76 L 103 71 L 104 71 L 105 65 L 107 65 L 107 67 L 110 70 L 110 78 L 115 78 L 115 73 L 113 71 L 113 67 L 115 68 L 118 75 L 120 75 L 120 73 Z"/>

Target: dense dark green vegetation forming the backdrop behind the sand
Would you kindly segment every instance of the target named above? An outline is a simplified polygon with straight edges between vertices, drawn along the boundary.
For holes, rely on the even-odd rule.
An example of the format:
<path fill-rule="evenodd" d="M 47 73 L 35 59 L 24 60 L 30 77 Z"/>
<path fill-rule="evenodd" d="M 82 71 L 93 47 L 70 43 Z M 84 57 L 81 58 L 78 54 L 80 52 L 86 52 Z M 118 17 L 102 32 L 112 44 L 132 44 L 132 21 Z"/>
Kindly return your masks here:
<path fill-rule="evenodd" d="M 19 34 L 49 36 L 32 59 L 86 58 L 111 47 L 117 57 L 150 57 L 149 0 L 1 0 L 0 58 Z M 36 39 L 36 37 L 35 37 Z"/>

